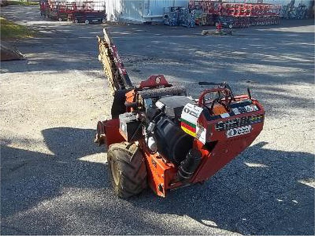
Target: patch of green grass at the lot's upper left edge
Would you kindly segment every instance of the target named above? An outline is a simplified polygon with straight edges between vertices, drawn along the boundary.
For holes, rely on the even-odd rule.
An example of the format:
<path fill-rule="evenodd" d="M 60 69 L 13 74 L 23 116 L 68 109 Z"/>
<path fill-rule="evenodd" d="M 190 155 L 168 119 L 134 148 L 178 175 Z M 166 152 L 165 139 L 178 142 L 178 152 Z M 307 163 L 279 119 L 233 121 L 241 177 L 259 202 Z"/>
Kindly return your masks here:
<path fill-rule="evenodd" d="M 35 35 L 35 31 L 0 17 L 0 35 L 1 39 L 30 38 Z"/>

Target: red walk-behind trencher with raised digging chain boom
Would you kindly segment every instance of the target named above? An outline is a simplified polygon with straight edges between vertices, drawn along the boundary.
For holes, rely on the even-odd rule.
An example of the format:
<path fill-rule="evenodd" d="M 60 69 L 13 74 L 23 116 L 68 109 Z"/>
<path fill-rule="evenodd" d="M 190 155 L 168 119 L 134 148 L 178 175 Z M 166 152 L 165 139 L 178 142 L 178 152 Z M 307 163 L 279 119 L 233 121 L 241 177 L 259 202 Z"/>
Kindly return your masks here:
<path fill-rule="evenodd" d="M 114 102 L 112 118 L 98 121 L 95 143 L 108 148 L 109 176 L 116 194 L 128 198 L 149 185 L 165 197 L 169 190 L 202 183 L 249 147 L 264 123 L 264 108 L 247 94 L 234 95 L 226 83 L 197 99 L 161 74 L 132 85 L 106 29 L 98 38 Z"/>

